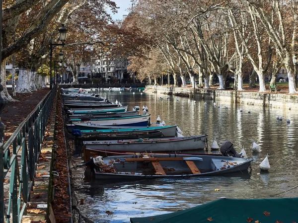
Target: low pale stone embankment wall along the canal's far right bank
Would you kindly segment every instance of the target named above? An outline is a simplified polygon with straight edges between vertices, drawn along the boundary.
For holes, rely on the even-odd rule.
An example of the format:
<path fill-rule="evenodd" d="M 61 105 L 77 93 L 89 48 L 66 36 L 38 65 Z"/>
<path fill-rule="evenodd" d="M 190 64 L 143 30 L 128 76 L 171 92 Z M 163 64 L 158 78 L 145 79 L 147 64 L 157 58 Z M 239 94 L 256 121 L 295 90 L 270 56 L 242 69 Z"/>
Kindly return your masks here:
<path fill-rule="evenodd" d="M 249 92 L 235 90 L 194 89 L 190 87 L 146 86 L 146 91 L 162 94 L 213 99 L 217 103 L 237 103 L 271 108 L 298 108 L 298 95 L 275 92 Z"/>

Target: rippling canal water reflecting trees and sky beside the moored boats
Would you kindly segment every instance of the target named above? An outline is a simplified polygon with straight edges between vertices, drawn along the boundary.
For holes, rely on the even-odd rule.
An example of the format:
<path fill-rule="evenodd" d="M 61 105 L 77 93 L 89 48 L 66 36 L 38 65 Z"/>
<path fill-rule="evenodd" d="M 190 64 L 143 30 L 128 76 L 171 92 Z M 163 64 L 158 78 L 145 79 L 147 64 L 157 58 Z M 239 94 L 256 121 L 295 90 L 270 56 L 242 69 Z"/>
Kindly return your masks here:
<path fill-rule="evenodd" d="M 129 223 L 131 217 L 147 217 L 191 208 L 226 198 L 296 197 L 298 192 L 298 112 L 290 109 L 237 106 L 221 102 L 168 96 L 139 91 L 101 91 L 102 97 L 128 110 L 143 105 L 149 108 L 151 122 L 159 115 L 166 125 L 177 124 L 182 135 L 208 135 L 208 145 L 216 139 L 226 140 L 240 152 L 245 149 L 254 158 L 250 174 L 235 177 L 201 177 L 189 179 L 154 179 L 111 182 L 90 179 L 84 169 L 73 171 L 77 200 L 81 212 L 96 223 Z M 217 104 L 214 105 L 214 102 Z M 240 108 L 243 109 L 240 112 Z M 248 111 L 250 110 L 250 113 Z M 276 116 L 283 116 L 277 120 Z M 291 122 L 287 123 L 286 120 Z M 261 152 L 253 153 L 253 141 Z M 209 151 L 218 152 L 218 151 Z M 271 169 L 261 173 L 259 164 L 269 156 Z M 216 190 L 219 189 L 219 190 Z M 216 211 L 216 210 L 215 210 Z M 113 213 L 113 214 L 107 214 Z"/>

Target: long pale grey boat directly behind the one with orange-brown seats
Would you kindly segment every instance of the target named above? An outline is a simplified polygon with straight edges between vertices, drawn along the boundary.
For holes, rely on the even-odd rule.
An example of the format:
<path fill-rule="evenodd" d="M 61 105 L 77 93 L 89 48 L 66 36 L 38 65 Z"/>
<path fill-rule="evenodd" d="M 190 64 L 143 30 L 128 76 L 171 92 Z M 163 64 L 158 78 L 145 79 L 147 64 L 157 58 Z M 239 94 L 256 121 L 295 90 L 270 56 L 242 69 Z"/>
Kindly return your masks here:
<path fill-rule="evenodd" d="M 174 152 L 206 148 L 207 135 L 139 140 L 86 141 L 87 149 L 118 152 Z"/>

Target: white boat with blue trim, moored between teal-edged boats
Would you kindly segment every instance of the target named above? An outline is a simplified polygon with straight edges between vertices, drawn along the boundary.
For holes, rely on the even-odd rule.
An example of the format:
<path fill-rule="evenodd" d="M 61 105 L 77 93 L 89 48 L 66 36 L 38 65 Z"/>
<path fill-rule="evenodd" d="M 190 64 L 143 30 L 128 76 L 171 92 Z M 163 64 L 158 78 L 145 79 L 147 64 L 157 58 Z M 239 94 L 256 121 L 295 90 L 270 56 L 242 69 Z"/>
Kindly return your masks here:
<path fill-rule="evenodd" d="M 150 115 L 136 115 L 136 116 L 127 116 L 127 117 L 114 117 L 114 118 L 88 118 L 83 117 L 79 119 L 70 119 L 72 124 L 84 124 L 90 122 L 92 124 L 121 124 L 121 123 L 128 123 L 128 122 L 138 122 L 138 121 L 149 121 Z"/>

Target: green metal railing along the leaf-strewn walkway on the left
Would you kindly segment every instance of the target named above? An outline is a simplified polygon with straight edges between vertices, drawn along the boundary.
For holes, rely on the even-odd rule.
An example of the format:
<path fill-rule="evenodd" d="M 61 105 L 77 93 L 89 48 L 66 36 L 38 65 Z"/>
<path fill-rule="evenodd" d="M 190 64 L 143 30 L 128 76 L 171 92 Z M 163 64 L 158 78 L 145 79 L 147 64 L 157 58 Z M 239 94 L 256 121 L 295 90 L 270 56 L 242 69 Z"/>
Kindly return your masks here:
<path fill-rule="evenodd" d="M 4 145 L 4 125 L 0 120 L 0 223 L 9 223 L 10 218 L 12 223 L 22 222 L 23 213 L 30 201 L 36 163 L 56 90 L 57 87 L 53 87 Z M 5 104 L 5 100 L 0 98 L 0 113 Z M 9 188 L 5 188 L 8 187 L 8 178 Z"/>

